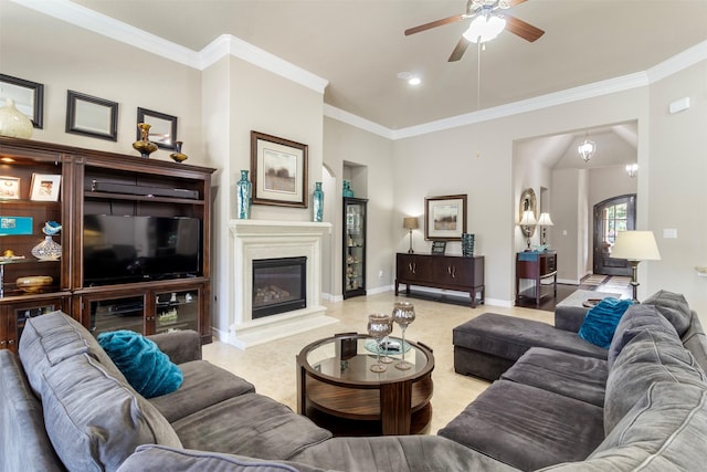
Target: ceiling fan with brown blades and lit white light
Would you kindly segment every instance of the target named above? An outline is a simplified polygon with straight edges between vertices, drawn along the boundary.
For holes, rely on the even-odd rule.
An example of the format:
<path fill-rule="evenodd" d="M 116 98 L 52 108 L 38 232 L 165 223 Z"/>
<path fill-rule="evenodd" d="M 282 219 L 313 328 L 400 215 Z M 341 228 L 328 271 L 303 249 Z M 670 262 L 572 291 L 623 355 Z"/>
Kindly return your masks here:
<path fill-rule="evenodd" d="M 447 60 L 449 62 L 462 59 L 469 42 L 483 43 L 493 40 L 504 29 L 526 41 L 534 42 L 545 34 L 545 31 L 511 14 L 498 11 L 506 10 L 525 1 L 527 0 L 467 0 L 465 13 L 410 28 L 405 30 L 405 35 L 409 36 L 410 34 L 431 30 L 432 28 L 473 19 L 469 29 L 462 34 L 460 42 L 456 44 L 456 48 L 454 48 L 454 51 L 452 51 L 452 55 L 450 55 Z"/>

